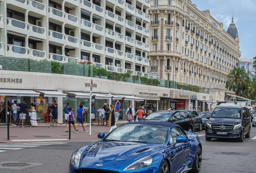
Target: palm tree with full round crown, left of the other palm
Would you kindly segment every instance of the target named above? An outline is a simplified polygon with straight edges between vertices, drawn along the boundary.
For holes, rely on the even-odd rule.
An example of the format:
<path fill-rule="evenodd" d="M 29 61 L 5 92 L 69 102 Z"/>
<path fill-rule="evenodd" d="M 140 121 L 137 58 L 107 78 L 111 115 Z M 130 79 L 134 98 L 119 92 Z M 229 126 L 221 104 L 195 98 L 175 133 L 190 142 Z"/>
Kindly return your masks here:
<path fill-rule="evenodd" d="M 250 78 L 242 68 L 233 68 L 227 75 L 226 89 L 235 91 L 236 95 L 243 89 L 244 85 L 248 86 Z"/>

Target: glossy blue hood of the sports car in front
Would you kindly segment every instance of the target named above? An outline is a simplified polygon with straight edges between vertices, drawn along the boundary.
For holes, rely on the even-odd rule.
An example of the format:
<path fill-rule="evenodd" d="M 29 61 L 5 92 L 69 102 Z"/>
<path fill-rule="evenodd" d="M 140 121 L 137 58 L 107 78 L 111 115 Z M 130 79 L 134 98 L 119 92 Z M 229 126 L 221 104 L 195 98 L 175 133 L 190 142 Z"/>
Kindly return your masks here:
<path fill-rule="evenodd" d="M 99 141 L 87 147 L 81 157 L 81 169 L 118 171 L 130 161 L 159 146 L 146 143 Z M 97 164 L 97 165 L 96 165 Z"/>

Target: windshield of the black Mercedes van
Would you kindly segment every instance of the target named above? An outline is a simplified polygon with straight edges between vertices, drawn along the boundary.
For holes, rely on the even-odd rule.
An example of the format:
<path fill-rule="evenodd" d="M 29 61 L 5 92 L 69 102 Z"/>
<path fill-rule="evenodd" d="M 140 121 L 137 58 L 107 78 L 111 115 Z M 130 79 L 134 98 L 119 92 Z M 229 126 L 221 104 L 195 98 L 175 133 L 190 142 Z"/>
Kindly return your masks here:
<path fill-rule="evenodd" d="M 215 108 L 211 118 L 234 118 L 241 119 L 241 109 L 237 108 Z"/>

